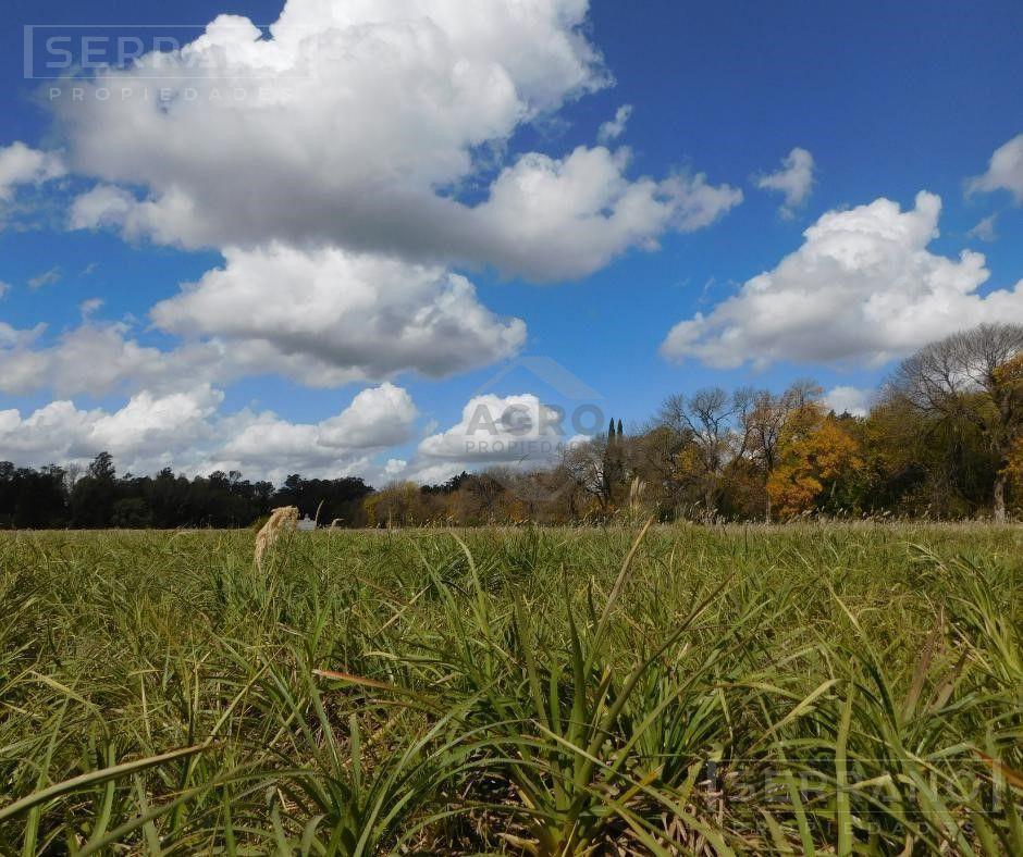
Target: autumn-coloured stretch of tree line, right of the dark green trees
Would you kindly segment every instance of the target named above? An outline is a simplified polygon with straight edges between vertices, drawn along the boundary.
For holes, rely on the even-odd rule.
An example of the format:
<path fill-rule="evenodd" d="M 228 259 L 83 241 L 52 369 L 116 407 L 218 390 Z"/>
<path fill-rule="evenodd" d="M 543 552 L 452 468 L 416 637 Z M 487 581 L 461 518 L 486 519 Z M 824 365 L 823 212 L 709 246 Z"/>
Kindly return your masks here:
<path fill-rule="evenodd" d="M 566 524 L 623 518 L 954 520 L 1023 512 L 1023 327 L 982 325 L 903 361 L 866 415 L 835 413 L 812 381 L 780 394 L 675 395 L 629 433 L 574 445 L 553 468 L 492 468 L 395 484 L 370 524 Z"/>

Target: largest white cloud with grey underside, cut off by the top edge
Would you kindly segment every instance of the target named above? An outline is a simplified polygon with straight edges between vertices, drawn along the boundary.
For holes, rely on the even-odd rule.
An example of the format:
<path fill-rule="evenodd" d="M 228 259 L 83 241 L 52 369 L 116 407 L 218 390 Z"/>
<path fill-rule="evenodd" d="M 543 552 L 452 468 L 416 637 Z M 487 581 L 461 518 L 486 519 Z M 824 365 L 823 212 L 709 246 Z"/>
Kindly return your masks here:
<path fill-rule="evenodd" d="M 586 0 L 288 0 L 270 38 L 221 16 L 180 51 L 56 100 L 75 167 L 100 181 L 70 223 L 188 248 L 317 241 L 537 281 L 707 225 L 738 191 L 633 179 L 627 156 L 602 147 L 526 153 L 482 204 L 459 198 L 485 189 L 490 156 L 523 124 L 608 84 L 587 13 Z M 170 98 L 153 97 L 161 87 Z M 97 100 L 103 89 L 119 97 Z M 552 224 L 516 220 L 552 201 L 556 253 Z"/>

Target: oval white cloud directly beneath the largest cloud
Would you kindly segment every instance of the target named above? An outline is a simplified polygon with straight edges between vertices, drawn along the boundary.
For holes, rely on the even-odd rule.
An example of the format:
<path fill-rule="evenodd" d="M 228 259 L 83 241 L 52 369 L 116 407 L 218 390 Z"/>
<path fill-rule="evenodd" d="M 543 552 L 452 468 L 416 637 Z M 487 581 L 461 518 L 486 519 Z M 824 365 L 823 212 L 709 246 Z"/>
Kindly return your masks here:
<path fill-rule="evenodd" d="M 291 367 L 285 374 L 310 385 L 408 369 L 440 377 L 509 357 L 526 338 L 522 321 L 497 318 L 468 280 L 436 265 L 280 244 L 224 256 L 158 303 L 153 322 L 248 349 L 262 364 L 254 369 Z"/>

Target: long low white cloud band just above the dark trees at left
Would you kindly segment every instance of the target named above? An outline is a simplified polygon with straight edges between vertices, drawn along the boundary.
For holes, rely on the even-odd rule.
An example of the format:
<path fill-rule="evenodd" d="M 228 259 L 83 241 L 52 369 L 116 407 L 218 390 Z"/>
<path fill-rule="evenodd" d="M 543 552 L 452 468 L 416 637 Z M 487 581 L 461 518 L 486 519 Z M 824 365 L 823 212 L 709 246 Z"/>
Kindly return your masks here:
<path fill-rule="evenodd" d="M 223 413 L 209 385 L 156 395 L 143 390 L 116 411 L 58 400 L 23 417 L 0 411 L 0 449 L 19 463 L 87 463 L 109 451 L 122 472 L 164 467 L 189 475 L 241 470 L 280 483 L 287 474 L 374 475 L 372 457 L 414 436 L 417 410 L 392 384 L 368 388 L 334 417 L 289 423 L 272 412 Z"/>

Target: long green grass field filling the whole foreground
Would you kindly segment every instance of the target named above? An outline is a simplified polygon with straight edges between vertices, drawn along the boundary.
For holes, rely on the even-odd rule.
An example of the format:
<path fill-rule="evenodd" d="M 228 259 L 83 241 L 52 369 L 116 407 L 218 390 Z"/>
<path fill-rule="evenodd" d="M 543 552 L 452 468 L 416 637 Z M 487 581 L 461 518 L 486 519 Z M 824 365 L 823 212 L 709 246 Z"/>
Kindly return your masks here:
<path fill-rule="evenodd" d="M 0 535 L 0 853 L 1023 854 L 1023 529 Z"/>

